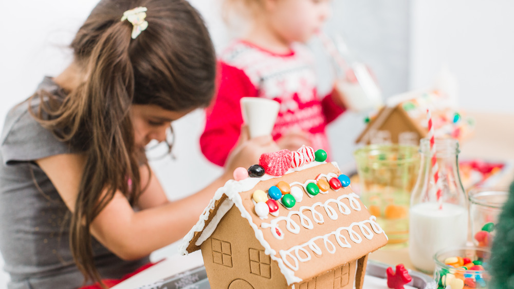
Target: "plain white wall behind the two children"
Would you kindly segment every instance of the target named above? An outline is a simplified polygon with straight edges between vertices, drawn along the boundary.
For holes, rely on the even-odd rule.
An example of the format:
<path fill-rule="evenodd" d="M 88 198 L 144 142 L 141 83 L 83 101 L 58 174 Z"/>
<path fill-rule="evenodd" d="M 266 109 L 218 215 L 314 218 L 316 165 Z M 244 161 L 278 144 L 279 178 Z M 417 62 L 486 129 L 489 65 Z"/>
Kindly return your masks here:
<path fill-rule="evenodd" d="M 28 97 L 43 75 L 58 74 L 69 62 L 66 45 L 97 0 L 1 1 L 0 126 L 7 110 Z M 215 1 L 192 0 L 209 25 L 216 48 L 226 45 L 227 31 Z M 460 104 L 469 110 L 514 113 L 514 2 L 509 0 L 335 0 L 327 24 L 340 32 L 368 63 L 386 97 L 411 88 L 428 87 L 443 63 L 460 85 Z M 320 86 L 331 83 L 319 44 Z M 351 161 L 353 141 L 363 115 L 346 113 L 330 128 L 333 158 Z M 203 113 L 195 111 L 174 125 L 174 153 L 153 162 L 170 199 L 189 195 L 219 174 L 198 147 Z M 179 181 L 180 180 L 180 181 Z M 172 189 L 173 188 L 173 189 Z M 170 228 L 173 229 L 173 228 Z M 173 254 L 168 247 L 154 254 Z M 0 289 L 6 275 L 0 273 Z"/>

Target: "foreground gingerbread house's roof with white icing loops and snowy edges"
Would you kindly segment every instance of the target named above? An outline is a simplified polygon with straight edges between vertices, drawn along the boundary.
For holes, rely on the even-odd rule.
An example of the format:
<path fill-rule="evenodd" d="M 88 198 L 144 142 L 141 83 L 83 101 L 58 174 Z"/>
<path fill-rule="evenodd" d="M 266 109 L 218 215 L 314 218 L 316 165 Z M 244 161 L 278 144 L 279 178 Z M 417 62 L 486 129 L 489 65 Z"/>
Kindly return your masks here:
<path fill-rule="evenodd" d="M 197 251 L 235 205 L 254 230 L 265 254 L 278 263 L 289 285 L 365 256 L 385 245 L 387 236 L 351 186 L 337 190 L 330 187 L 316 196 L 306 192 L 309 183 L 323 178 L 328 181 L 340 174 L 337 164 L 314 161 L 290 168 L 282 177 L 265 174 L 261 178 L 228 181 L 216 191 L 197 224 L 183 239 L 180 251 Z M 267 191 L 279 181 L 303 187 L 303 198 L 290 209 L 279 205 L 276 216 L 260 218 L 254 210 L 253 191 Z"/>

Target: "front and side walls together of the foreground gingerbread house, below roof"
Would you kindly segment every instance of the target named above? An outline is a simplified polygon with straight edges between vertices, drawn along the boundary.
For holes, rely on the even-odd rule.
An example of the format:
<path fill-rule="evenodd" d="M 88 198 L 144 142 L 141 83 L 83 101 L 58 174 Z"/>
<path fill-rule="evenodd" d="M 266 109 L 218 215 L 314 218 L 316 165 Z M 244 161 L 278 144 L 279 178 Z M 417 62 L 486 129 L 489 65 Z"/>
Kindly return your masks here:
<path fill-rule="evenodd" d="M 200 248 L 213 289 L 292 288 L 287 286 L 278 264 L 264 254 L 264 247 L 235 206 Z M 352 289 L 356 275 L 356 288 L 361 288 L 366 256 L 296 283 L 295 289 Z"/>

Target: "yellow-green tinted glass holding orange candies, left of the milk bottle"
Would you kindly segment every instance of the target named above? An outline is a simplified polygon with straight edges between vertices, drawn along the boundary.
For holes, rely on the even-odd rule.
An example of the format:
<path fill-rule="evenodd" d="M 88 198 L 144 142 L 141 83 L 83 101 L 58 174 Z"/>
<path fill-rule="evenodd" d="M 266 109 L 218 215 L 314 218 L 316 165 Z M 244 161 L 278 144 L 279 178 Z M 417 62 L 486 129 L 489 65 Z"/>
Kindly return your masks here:
<path fill-rule="evenodd" d="M 418 147 L 373 144 L 354 152 L 360 198 L 389 237 L 388 247 L 409 239 L 410 192 L 419 169 Z"/>

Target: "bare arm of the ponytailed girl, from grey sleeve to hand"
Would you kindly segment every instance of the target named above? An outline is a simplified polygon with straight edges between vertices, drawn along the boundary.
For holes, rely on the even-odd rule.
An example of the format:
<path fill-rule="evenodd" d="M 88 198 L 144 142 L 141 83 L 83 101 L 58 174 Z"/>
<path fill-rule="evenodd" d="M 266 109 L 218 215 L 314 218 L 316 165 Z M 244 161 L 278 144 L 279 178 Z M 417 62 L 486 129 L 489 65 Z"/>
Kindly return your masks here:
<path fill-rule="evenodd" d="M 198 221 L 217 188 L 232 178 L 237 166 L 249 167 L 261 153 L 276 150 L 270 136 L 243 141 L 234 150 L 225 174 L 187 198 L 134 211 L 121 191 L 91 224 L 91 234 L 122 259 L 139 259 L 158 248 L 179 240 Z M 79 184 L 83 175 L 83 155 L 56 155 L 36 161 L 56 187 L 71 210 L 75 210 Z M 180 180 L 177 180 L 180 181 Z"/>

